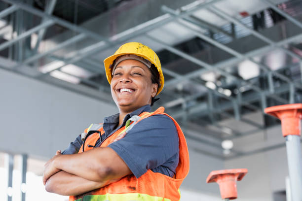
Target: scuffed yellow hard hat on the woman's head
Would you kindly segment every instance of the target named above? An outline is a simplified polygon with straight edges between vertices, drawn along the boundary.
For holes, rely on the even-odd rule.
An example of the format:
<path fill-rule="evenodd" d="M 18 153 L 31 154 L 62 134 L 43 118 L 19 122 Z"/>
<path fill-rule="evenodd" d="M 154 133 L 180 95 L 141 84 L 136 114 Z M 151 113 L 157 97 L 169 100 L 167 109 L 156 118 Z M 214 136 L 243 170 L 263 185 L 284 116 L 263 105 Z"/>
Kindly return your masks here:
<path fill-rule="evenodd" d="M 161 92 L 165 83 L 159 58 L 150 47 L 143 45 L 142 43 L 139 42 L 128 42 L 121 45 L 112 56 L 107 57 L 104 60 L 106 77 L 109 84 L 111 83 L 111 79 L 112 79 L 112 66 L 114 60 L 121 55 L 129 55 L 129 54 L 143 57 L 144 59 L 150 61 L 157 68 L 159 73 L 159 86 L 156 95 L 158 95 Z"/>

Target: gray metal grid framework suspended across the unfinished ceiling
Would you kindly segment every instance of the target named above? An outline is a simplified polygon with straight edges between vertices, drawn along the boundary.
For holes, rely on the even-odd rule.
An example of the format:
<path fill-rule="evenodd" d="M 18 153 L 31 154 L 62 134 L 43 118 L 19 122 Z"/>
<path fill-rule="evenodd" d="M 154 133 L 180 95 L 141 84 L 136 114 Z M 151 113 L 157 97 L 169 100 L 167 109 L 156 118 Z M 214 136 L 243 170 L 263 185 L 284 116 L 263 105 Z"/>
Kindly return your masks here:
<path fill-rule="evenodd" d="M 174 95 L 173 91 L 168 91 L 168 90 L 163 91 L 163 94 L 167 94 L 167 95 L 173 94 L 173 96 L 171 96 L 173 97 L 173 100 L 170 99 L 163 103 L 166 105 L 166 108 L 169 109 L 169 107 L 171 107 L 170 110 L 172 111 L 172 116 L 174 116 L 175 118 L 181 118 L 184 121 L 190 122 L 191 124 L 194 121 L 202 121 L 203 117 L 209 117 L 212 125 L 214 125 L 217 128 L 222 128 L 222 126 L 219 124 L 220 120 L 216 118 L 217 115 L 220 115 L 222 118 L 233 118 L 236 121 L 248 123 L 249 125 L 255 127 L 256 129 L 255 131 L 263 130 L 265 128 L 264 124 L 256 123 L 244 117 L 242 113 L 242 107 L 247 107 L 253 111 L 263 110 L 267 106 L 268 99 L 277 101 L 279 103 L 294 103 L 295 93 L 298 90 L 302 90 L 302 83 L 301 83 L 302 57 L 301 55 L 287 48 L 287 46 L 290 46 L 292 43 L 301 42 L 302 33 L 293 35 L 288 38 L 283 38 L 280 41 L 276 42 L 270 39 L 269 37 L 267 37 L 266 35 L 264 35 L 263 33 L 260 33 L 250 28 L 249 26 L 244 24 L 241 20 L 233 16 L 230 16 L 224 10 L 218 8 L 216 4 L 223 0 L 196 1 L 194 2 L 193 6 L 184 6 L 182 9 L 177 9 L 177 10 L 173 10 L 167 6 L 162 6 L 161 9 L 164 12 L 163 15 L 154 18 L 150 21 L 147 21 L 143 24 L 140 24 L 136 27 L 132 27 L 122 33 L 115 34 L 110 38 L 104 37 L 98 33 L 92 32 L 89 29 L 77 26 L 64 19 L 60 19 L 52 15 L 54 7 L 57 2 L 56 0 L 49 1 L 44 12 L 29 4 L 20 2 L 18 0 L 1 0 L 1 1 L 10 4 L 10 7 L 0 11 L 1 19 L 5 18 L 8 15 L 13 15 L 14 12 L 18 10 L 26 11 L 28 13 L 31 13 L 41 18 L 41 23 L 38 26 L 33 27 L 23 33 L 20 33 L 19 35 L 16 35 L 12 39 L 0 44 L 0 51 L 1 51 L 6 48 L 10 48 L 12 45 L 16 44 L 17 42 L 23 41 L 27 37 L 31 36 L 33 33 L 37 33 L 38 39 L 36 44 L 34 45 L 34 48 L 32 48 L 32 55 L 30 57 L 21 60 L 19 59 L 18 61 L 15 61 L 15 63 L 11 66 L 3 66 L 3 65 L 1 66 L 1 68 L 11 70 L 17 73 L 25 74 L 35 79 L 39 79 L 42 81 L 46 81 L 49 79 L 56 80 L 56 78 L 53 78 L 51 76 L 52 72 L 54 71 L 63 72 L 62 67 L 66 67 L 69 64 L 78 64 L 80 67 L 85 68 L 89 71 L 97 72 L 99 74 L 104 74 L 104 70 L 99 68 L 99 66 L 101 66 L 101 63 L 94 62 L 93 60 L 91 60 L 90 58 L 91 56 L 100 53 L 109 47 L 113 47 L 119 45 L 120 43 L 128 41 L 129 39 L 135 39 L 136 37 L 144 36 L 146 38 L 149 38 L 152 42 L 156 43 L 158 46 L 162 47 L 164 50 L 173 53 L 179 56 L 180 58 L 183 58 L 199 67 L 198 69 L 190 71 L 189 73 L 186 74 L 180 74 L 174 70 L 163 67 L 163 72 L 166 75 L 172 77 L 171 79 L 166 81 L 165 83 L 166 88 L 174 90 L 175 89 L 174 86 L 177 84 L 189 83 L 191 85 L 194 85 L 195 87 L 200 87 L 203 89 L 203 91 L 199 93 L 194 93 L 191 95 L 187 95 L 185 97 L 181 94 Z M 276 13 L 283 16 L 288 22 L 291 22 L 299 29 L 302 29 L 302 23 L 299 20 L 295 19 L 291 15 L 287 14 L 286 12 L 278 8 L 273 2 L 271 2 L 271 0 L 264 0 L 264 2 L 267 4 L 268 7 L 273 9 Z M 194 13 L 196 11 L 200 11 L 201 9 L 204 9 L 207 12 L 210 12 L 216 15 L 217 17 L 231 23 L 233 32 L 234 32 L 234 26 L 238 26 L 241 29 L 248 31 L 254 37 L 263 41 L 265 45 L 260 48 L 256 48 L 254 50 L 241 53 L 236 49 L 228 46 L 227 44 L 219 42 L 218 40 L 213 38 L 211 34 L 205 33 L 204 30 L 208 30 L 209 33 L 213 33 L 213 32 L 222 33 L 227 37 L 232 38 L 232 40 L 236 39 L 234 33 L 229 33 L 219 26 L 198 19 L 194 15 Z M 167 42 L 160 40 L 158 37 L 154 35 L 149 34 L 151 30 L 160 28 L 171 22 L 176 23 L 182 26 L 184 29 L 189 30 L 196 37 L 202 39 L 207 44 L 210 44 L 213 47 L 223 50 L 224 52 L 228 53 L 232 57 L 215 64 L 210 64 L 203 61 L 202 59 L 196 58 L 195 56 L 178 49 L 177 47 Z M 38 52 L 38 47 L 44 38 L 47 28 L 56 24 L 66 28 L 67 30 L 71 30 L 75 32 L 76 35 L 63 41 L 60 44 L 57 44 L 55 47 L 47 50 L 46 52 Z M 71 58 L 65 59 L 65 58 L 54 57 L 52 55 L 54 52 L 64 49 L 74 43 L 83 41 L 84 39 L 93 40 L 95 41 L 95 43 L 77 50 L 75 52 L 75 56 Z M 273 70 L 271 69 L 271 67 L 255 59 L 256 56 L 263 56 L 267 52 L 276 49 L 280 50 L 288 57 L 292 57 L 300 62 L 301 76 L 299 80 L 292 80 L 290 77 L 288 77 L 287 75 L 281 72 L 282 69 L 291 69 L 297 67 L 296 64 L 287 65 L 285 67 L 282 67 L 281 70 L 280 69 Z M 45 58 L 46 60 L 61 61 L 63 63 L 62 65 L 59 65 L 58 67 L 53 68 L 44 73 L 36 69 L 37 73 L 35 75 L 28 75 L 26 74 L 26 72 L 24 72 L 24 70 L 22 70 L 22 68 L 24 68 L 25 66 L 28 67 L 28 65 L 36 63 L 41 58 Z M 258 83 L 254 82 L 253 80 L 245 80 L 226 68 L 226 67 L 234 67 L 243 61 L 250 61 L 251 63 L 254 63 L 258 67 L 260 67 L 260 69 L 263 72 L 261 76 L 265 77 L 265 79 L 267 80 L 268 83 L 267 88 L 261 87 Z M 43 68 L 47 65 L 48 63 L 46 63 L 40 68 Z M 233 82 L 236 83 L 236 90 L 237 90 L 236 95 L 228 96 L 222 93 L 223 90 L 222 87 L 210 88 L 209 86 L 207 86 L 206 82 L 200 79 L 200 75 L 203 75 L 208 72 L 215 72 L 227 79 L 233 80 Z M 69 74 L 66 72 L 64 73 Z M 72 76 L 77 77 L 75 75 Z M 102 84 L 94 80 L 91 80 L 89 78 L 82 78 L 82 77 L 77 77 L 77 78 L 80 80 L 81 83 L 87 84 L 89 86 L 93 86 L 98 91 L 103 91 L 107 93 L 105 90 L 106 87 L 103 86 Z M 281 86 L 278 87 L 275 86 L 274 80 L 276 79 L 280 80 Z M 72 87 L 72 90 L 75 90 L 75 88 L 76 87 Z M 245 94 L 243 92 L 244 90 L 242 89 L 249 89 L 250 90 L 249 94 Z M 79 93 L 85 93 L 84 92 L 85 90 L 87 90 L 87 88 L 80 89 L 79 87 L 77 89 Z M 284 98 L 283 95 L 286 93 L 288 93 L 288 97 Z M 204 100 L 199 100 L 202 98 L 204 98 Z M 214 105 L 214 101 L 222 101 L 222 103 L 219 105 Z M 260 106 L 255 104 L 255 102 L 258 102 Z M 180 105 L 180 107 L 177 107 L 178 105 Z M 174 109 L 175 107 L 176 109 Z M 231 133 L 232 135 L 226 138 L 233 138 L 245 134 L 252 134 L 253 132 L 247 131 L 246 133 L 242 133 L 236 131 L 235 129 L 231 129 Z"/>

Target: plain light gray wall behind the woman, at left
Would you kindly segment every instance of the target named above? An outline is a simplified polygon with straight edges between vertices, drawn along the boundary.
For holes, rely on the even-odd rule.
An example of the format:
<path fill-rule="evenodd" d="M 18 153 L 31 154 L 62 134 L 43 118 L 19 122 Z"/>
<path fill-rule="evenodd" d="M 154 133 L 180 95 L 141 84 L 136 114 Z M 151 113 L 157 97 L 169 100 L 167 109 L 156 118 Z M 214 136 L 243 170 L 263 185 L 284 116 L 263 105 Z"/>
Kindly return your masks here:
<path fill-rule="evenodd" d="M 0 150 L 48 159 L 117 107 L 0 69 Z"/>

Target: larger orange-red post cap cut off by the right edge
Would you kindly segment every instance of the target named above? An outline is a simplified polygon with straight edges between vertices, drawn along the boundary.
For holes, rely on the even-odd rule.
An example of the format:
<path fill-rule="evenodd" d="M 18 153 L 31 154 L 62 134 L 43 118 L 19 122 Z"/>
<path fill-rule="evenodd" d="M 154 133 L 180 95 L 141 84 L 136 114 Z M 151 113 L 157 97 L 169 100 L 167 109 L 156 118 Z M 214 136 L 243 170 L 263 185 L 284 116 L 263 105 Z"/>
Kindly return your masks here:
<path fill-rule="evenodd" d="M 264 109 L 266 114 L 281 120 L 282 134 L 300 135 L 302 119 L 302 103 L 277 105 Z"/>

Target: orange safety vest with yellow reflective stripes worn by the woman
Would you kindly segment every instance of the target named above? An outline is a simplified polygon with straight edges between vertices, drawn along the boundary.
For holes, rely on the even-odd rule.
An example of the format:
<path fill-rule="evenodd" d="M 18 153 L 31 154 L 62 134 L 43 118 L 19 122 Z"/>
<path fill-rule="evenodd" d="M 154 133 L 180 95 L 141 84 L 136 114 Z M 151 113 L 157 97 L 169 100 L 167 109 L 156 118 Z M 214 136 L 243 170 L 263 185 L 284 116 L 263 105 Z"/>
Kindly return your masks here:
<path fill-rule="evenodd" d="M 141 177 L 136 178 L 133 174 L 127 175 L 120 180 L 111 183 L 102 188 L 92 190 L 82 195 L 70 196 L 69 201 L 179 201 L 180 185 L 189 173 L 189 152 L 185 136 L 178 123 L 168 114 L 164 113 L 164 107 L 159 107 L 154 112 L 143 112 L 136 123 L 151 115 L 164 114 L 170 117 L 178 132 L 179 137 L 179 163 L 174 177 L 148 170 Z M 101 147 L 106 147 L 121 133 L 126 130 L 125 127 L 106 138 Z M 104 134 L 103 128 L 100 128 L 101 134 Z M 87 129 L 85 130 L 86 133 Z M 99 139 L 98 133 L 91 134 L 85 141 L 84 151 L 93 149 L 88 144 L 95 145 Z M 82 147 L 79 153 L 82 152 Z"/>

